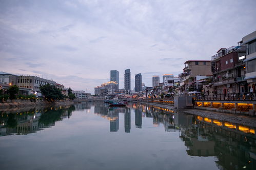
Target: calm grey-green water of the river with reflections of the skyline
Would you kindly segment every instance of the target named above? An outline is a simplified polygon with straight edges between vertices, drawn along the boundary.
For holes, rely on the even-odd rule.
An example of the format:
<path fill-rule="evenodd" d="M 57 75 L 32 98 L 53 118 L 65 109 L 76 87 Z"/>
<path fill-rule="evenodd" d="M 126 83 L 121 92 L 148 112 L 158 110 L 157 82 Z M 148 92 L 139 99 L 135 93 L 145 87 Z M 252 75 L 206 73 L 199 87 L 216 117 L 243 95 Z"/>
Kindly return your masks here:
<path fill-rule="evenodd" d="M 254 129 L 182 112 L 88 102 L 0 114 L 1 169 L 256 169 Z"/>

